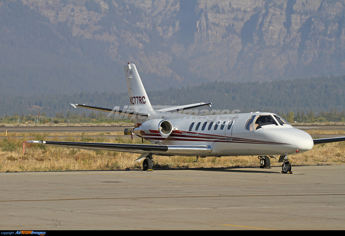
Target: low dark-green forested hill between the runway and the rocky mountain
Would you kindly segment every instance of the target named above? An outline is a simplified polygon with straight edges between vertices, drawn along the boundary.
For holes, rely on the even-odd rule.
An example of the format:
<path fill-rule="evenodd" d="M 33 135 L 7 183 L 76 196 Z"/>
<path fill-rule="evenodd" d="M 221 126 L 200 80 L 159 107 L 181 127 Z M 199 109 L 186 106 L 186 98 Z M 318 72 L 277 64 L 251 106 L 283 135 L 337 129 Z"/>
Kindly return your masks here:
<path fill-rule="evenodd" d="M 143 82 L 144 83 L 144 82 Z M 145 83 L 144 83 L 145 86 Z M 147 88 L 147 87 L 146 87 Z M 125 89 L 125 88 L 124 88 Z M 149 87 L 147 88 L 149 89 Z M 272 111 L 287 114 L 294 112 L 298 120 L 322 115 L 327 120 L 339 120 L 345 107 L 345 76 L 317 77 L 274 82 L 209 82 L 194 87 L 182 87 L 163 91 L 147 91 L 152 105 L 177 106 L 198 102 L 211 102 L 212 109 L 238 109 L 242 113 Z M 127 92 L 80 92 L 73 94 L 43 94 L 34 96 L 0 95 L 0 116 L 37 114 L 45 112 L 48 117 L 68 110 L 88 116 L 91 111 L 73 108 L 69 103 L 91 106 L 123 108 L 130 105 Z M 327 111 L 332 112 L 326 115 Z M 298 111 L 300 114 L 298 115 Z M 302 115 L 302 112 L 305 114 Z M 317 114 L 317 115 L 316 115 Z"/>

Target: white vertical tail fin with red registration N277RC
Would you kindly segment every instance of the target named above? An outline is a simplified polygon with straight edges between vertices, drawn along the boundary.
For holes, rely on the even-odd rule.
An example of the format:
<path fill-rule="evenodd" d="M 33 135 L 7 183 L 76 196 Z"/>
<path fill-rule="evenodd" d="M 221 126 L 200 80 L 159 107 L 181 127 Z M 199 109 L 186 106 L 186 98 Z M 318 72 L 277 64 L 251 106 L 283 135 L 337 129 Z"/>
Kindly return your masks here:
<path fill-rule="evenodd" d="M 152 109 L 149 98 L 147 97 L 144 85 L 141 83 L 140 76 L 134 64 L 127 64 L 125 67 L 125 75 L 128 87 L 128 94 L 131 104 L 135 110 Z"/>

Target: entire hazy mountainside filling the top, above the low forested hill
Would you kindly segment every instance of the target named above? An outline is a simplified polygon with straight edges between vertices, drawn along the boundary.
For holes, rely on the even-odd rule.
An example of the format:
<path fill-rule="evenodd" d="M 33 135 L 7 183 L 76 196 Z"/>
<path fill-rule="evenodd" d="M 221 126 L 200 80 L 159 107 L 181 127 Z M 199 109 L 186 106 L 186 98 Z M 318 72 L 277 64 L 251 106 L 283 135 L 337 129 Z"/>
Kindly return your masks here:
<path fill-rule="evenodd" d="M 0 92 L 120 92 L 127 62 L 148 90 L 344 75 L 344 16 L 341 0 L 1 0 Z"/>

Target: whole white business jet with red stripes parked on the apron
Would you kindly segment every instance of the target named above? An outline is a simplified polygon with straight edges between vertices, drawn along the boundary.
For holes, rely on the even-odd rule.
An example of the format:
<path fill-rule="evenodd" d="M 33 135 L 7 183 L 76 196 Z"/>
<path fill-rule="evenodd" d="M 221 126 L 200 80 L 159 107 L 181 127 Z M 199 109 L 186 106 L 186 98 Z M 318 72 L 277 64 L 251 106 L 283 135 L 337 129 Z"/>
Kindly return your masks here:
<path fill-rule="evenodd" d="M 345 137 L 312 139 L 293 128 L 277 114 L 251 112 L 242 114 L 190 115 L 178 113 L 195 107 L 210 106 L 211 103 L 196 103 L 155 110 L 152 108 L 144 86 L 134 64 L 125 65 L 126 81 L 132 109 L 109 108 L 71 104 L 98 111 L 132 116 L 135 128 L 132 132 L 152 144 L 118 144 L 27 141 L 48 146 L 89 150 L 110 150 L 141 153 L 135 161 L 143 161 L 142 169 L 152 170 L 154 155 L 221 157 L 255 155 L 261 168 L 270 168 L 270 159 L 279 156 L 283 162 L 282 173 L 292 173 L 288 155 L 302 153 L 314 144 L 345 141 Z"/>

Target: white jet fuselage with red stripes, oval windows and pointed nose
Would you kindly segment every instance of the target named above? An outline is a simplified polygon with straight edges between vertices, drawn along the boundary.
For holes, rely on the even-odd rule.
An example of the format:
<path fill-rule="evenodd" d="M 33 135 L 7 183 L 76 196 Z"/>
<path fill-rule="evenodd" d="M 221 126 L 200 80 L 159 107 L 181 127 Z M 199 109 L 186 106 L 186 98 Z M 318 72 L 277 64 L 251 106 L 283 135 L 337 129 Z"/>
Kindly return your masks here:
<path fill-rule="evenodd" d="M 140 112 L 144 112 L 142 110 Z M 251 116 L 275 115 L 273 113 L 242 113 L 242 114 L 223 114 L 223 115 L 187 115 L 170 112 L 150 112 L 147 119 L 135 119 L 135 125 L 152 119 L 169 120 L 176 130 L 162 141 L 157 141 L 160 145 L 188 145 L 200 146 L 210 145 L 213 150 L 211 153 L 184 153 L 187 156 L 237 156 L 237 155 L 290 155 L 309 151 L 313 148 L 312 137 L 293 126 L 284 124 L 264 125 L 257 130 L 246 130 L 245 125 Z M 254 119 L 255 120 L 255 119 Z M 228 130 L 229 122 L 233 121 Z M 200 122 L 198 130 L 197 124 Z M 204 130 L 203 124 L 207 122 Z M 210 122 L 213 122 L 209 129 Z M 215 130 L 215 124 L 219 123 Z M 224 126 L 221 129 L 221 124 Z M 194 123 L 189 131 L 190 125 Z M 138 134 L 137 134 L 138 135 Z M 140 135 L 138 135 L 140 136 Z"/>

